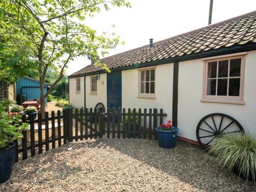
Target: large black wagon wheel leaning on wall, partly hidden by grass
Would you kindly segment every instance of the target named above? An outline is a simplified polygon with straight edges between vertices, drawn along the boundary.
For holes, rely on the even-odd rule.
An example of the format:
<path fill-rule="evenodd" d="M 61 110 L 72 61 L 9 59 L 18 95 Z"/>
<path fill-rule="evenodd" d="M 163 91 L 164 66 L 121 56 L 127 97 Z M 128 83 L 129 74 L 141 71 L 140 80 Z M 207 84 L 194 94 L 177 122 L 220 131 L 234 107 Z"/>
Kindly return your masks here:
<path fill-rule="evenodd" d="M 236 119 L 223 113 L 211 113 L 204 116 L 197 125 L 197 141 L 207 149 L 213 144 L 216 136 L 229 133 L 244 133 L 243 127 Z"/>

